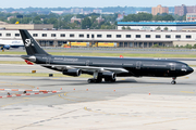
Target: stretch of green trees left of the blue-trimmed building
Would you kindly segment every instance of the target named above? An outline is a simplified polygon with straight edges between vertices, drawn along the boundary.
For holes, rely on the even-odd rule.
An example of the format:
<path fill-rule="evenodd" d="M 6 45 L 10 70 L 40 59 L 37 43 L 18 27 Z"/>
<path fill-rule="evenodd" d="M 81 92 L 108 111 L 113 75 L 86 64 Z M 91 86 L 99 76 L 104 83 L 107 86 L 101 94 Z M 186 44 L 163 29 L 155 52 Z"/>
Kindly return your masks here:
<path fill-rule="evenodd" d="M 23 18 L 17 18 L 16 16 L 21 15 L 19 13 L 0 13 L 0 21 L 7 22 L 9 24 L 15 24 L 20 22 L 20 24 L 53 24 L 54 28 L 60 29 L 115 29 L 118 18 L 118 14 L 96 14 L 91 13 L 88 15 L 84 14 L 37 14 L 30 13 L 23 16 Z M 8 17 L 12 17 L 8 21 Z M 71 23 L 71 18 L 75 16 L 77 18 L 82 18 L 82 22 Z M 102 17 L 105 21 L 98 23 L 96 18 Z"/>

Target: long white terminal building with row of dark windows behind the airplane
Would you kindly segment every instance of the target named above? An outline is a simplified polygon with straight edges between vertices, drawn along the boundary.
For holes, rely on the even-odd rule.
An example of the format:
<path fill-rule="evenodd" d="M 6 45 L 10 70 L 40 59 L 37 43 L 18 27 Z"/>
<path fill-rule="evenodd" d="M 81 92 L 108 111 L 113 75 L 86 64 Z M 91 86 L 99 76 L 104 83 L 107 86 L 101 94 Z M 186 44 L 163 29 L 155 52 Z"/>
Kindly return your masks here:
<path fill-rule="evenodd" d="M 196 31 L 187 30 L 29 30 L 42 47 L 61 47 L 70 42 L 113 42 L 113 48 L 151 48 L 196 44 Z M 0 30 L 2 40 L 21 40 L 19 30 Z"/>

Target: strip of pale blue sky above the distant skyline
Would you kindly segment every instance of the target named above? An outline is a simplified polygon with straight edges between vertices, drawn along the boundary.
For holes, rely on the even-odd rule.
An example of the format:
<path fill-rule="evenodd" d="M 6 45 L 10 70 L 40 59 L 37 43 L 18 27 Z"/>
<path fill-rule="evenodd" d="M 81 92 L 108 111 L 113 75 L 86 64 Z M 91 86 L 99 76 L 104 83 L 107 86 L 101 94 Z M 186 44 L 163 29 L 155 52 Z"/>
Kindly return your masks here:
<path fill-rule="evenodd" d="M 195 0 L 0 0 L 0 8 L 105 8 L 196 5 Z"/>

